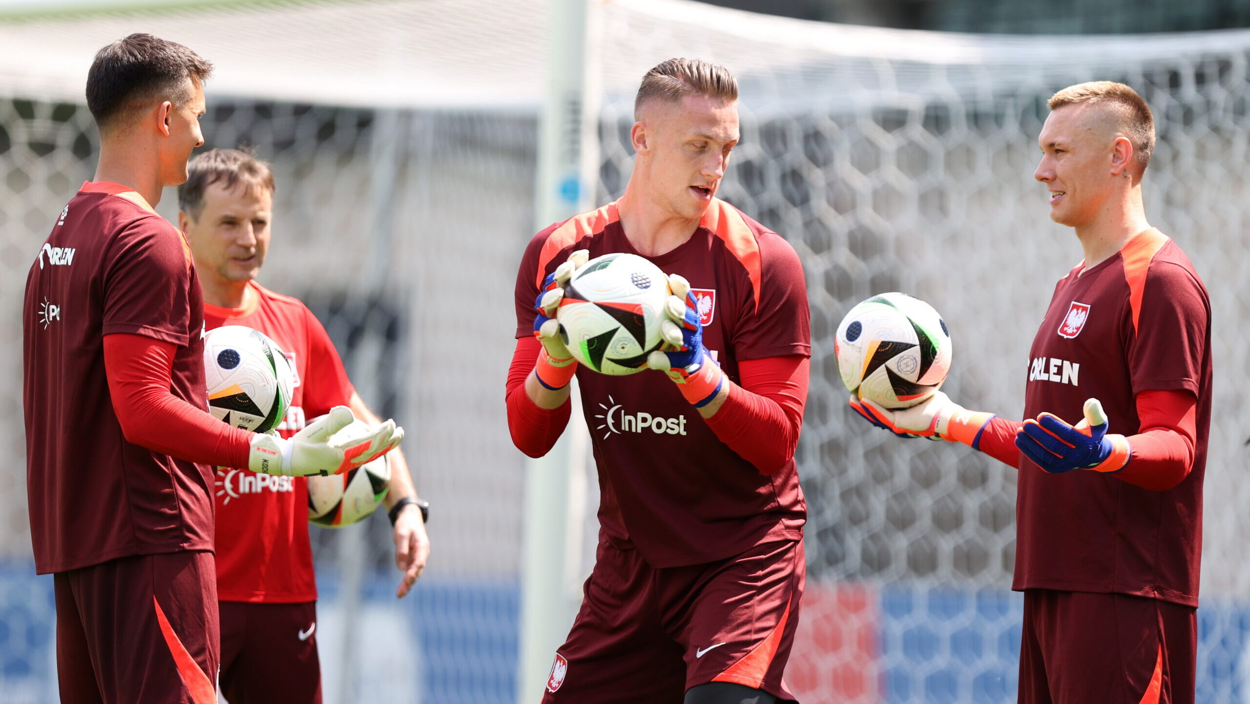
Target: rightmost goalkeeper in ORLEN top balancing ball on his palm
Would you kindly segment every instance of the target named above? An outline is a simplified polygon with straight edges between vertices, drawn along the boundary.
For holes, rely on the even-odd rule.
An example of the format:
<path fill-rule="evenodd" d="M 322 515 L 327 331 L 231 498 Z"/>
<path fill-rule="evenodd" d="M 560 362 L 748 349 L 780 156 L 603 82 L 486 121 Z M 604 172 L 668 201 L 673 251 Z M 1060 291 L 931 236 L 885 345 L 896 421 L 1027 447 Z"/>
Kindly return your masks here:
<path fill-rule="evenodd" d="M 1185 253 L 1146 223 L 1146 103 L 1098 81 L 1049 105 L 1034 176 L 1085 260 L 1055 286 L 1034 338 L 1028 420 L 970 411 L 940 391 L 906 410 L 851 406 L 900 435 L 964 443 L 1019 468 L 1019 701 L 1188 704 L 1211 308 Z"/>

